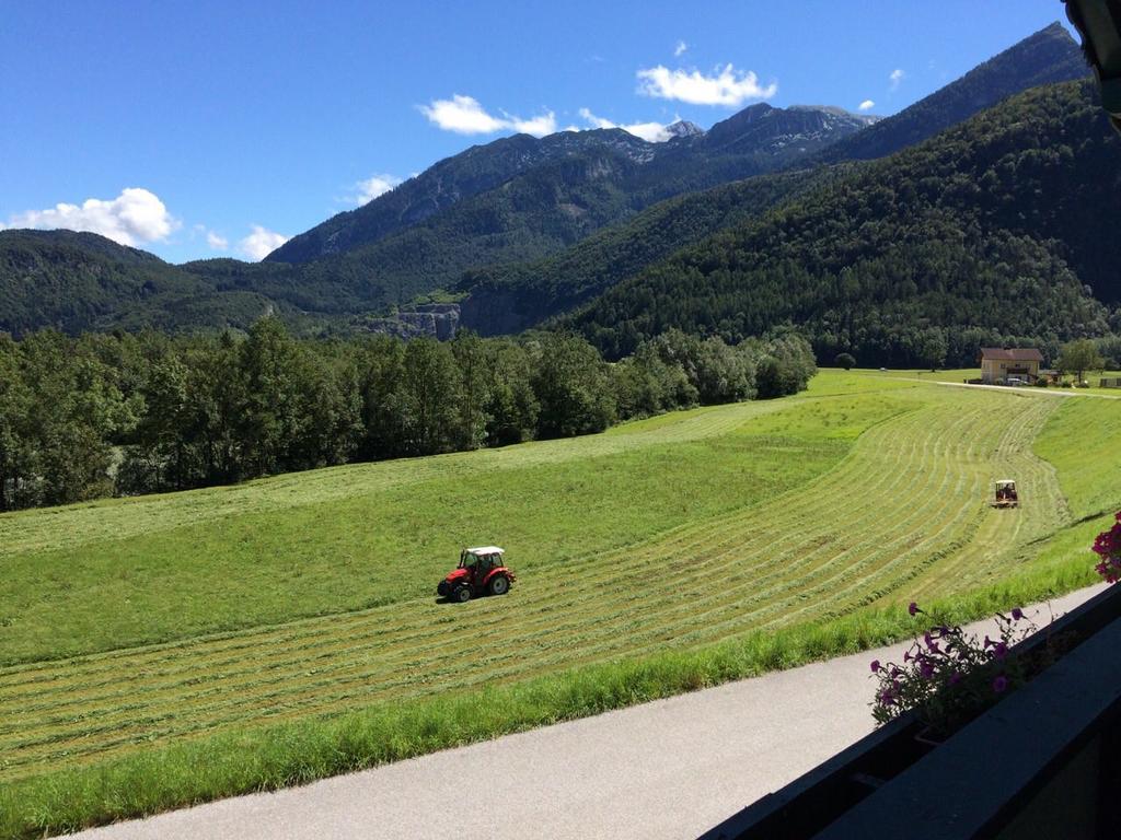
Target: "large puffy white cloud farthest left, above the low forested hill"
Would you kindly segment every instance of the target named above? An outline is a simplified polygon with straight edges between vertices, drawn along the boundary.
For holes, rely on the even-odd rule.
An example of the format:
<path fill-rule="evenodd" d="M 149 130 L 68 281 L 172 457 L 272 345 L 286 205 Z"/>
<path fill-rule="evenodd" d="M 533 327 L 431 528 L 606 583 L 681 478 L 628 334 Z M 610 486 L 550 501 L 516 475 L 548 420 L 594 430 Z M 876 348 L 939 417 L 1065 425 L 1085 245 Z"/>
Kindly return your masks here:
<path fill-rule="evenodd" d="M 56 204 L 50 209 L 27 211 L 9 217 L 6 226 L 89 231 L 133 246 L 166 240 L 179 224 L 155 193 L 128 187 L 109 200 L 86 198 L 81 206 Z"/>

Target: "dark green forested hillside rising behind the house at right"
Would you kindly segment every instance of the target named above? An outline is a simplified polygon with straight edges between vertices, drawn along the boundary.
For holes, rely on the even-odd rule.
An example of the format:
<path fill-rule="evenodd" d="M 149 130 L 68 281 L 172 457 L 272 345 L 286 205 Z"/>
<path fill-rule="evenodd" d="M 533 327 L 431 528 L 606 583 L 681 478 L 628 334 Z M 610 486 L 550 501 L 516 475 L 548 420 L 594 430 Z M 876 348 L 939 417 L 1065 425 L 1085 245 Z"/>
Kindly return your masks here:
<path fill-rule="evenodd" d="M 614 287 L 564 323 L 608 356 L 671 327 L 785 321 L 818 356 L 971 364 L 981 344 L 1104 335 L 1121 300 L 1121 141 L 1090 82 L 1020 94 Z M 1112 324 L 1111 324 L 1112 320 Z"/>

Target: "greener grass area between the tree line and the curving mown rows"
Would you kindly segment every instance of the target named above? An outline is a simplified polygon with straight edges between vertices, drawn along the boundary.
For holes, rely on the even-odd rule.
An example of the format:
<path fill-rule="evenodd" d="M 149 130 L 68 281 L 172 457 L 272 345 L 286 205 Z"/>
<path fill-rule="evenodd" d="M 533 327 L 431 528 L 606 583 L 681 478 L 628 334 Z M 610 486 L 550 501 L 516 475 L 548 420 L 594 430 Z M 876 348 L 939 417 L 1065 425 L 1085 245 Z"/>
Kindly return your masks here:
<path fill-rule="evenodd" d="M 855 414 L 879 417 L 880 403 L 864 402 L 871 409 L 862 403 Z M 201 522 L 182 524 L 172 508 L 141 533 L 128 522 L 132 500 L 118 502 L 103 506 L 119 520 L 112 538 L 102 525 L 83 530 L 83 515 L 102 506 L 58 508 L 53 515 L 62 535 L 44 531 L 33 539 L 26 525 L 24 538 L 12 540 L 21 549 L 9 547 L 0 557 L 0 663 L 415 600 L 432 592 L 465 543 L 500 541 L 520 571 L 531 571 L 640 542 L 758 503 L 836 464 L 854 431 L 830 427 L 793 440 L 754 436 L 729 444 L 730 429 L 803 404 L 683 412 L 610 436 L 436 458 L 457 465 L 436 478 L 428 477 L 428 459 L 319 470 L 308 474 L 313 486 L 330 476 L 351 495 L 323 501 L 316 492 L 293 492 L 284 496 L 287 507 L 216 519 L 224 488 L 188 493 L 188 506 L 209 505 Z M 541 463 L 541 451 L 565 457 Z M 513 466 L 519 455 L 524 464 Z M 508 466 L 495 468 L 495 456 Z M 414 465 L 418 477 L 405 486 L 377 489 L 379 479 L 361 477 Z M 268 504 L 279 504 L 284 494 L 271 483 L 259 487 Z M 642 504 L 620 504 L 627 498 Z M 152 503 L 135 502 L 147 521 L 142 512 Z M 9 544 L 8 532 L 18 531 L 9 525 L 21 524 L 22 515 L 0 517 L 0 544 Z M 33 512 L 36 528 L 48 515 Z M 50 549 L 34 548 L 52 541 Z"/>

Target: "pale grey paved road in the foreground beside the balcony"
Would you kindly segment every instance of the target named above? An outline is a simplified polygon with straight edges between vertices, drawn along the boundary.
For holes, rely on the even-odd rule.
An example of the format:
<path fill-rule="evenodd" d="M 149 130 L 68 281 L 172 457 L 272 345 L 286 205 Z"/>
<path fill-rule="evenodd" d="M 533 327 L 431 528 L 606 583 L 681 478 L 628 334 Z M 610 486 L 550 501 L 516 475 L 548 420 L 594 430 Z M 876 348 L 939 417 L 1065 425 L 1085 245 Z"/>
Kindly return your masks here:
<path fill-rule="evenodd" d="M 1034 608 L 1036 623 L 1100 589 Z M 905 646 L 75 837 L 694 838 L 871 731 L 868 663 Z"/>

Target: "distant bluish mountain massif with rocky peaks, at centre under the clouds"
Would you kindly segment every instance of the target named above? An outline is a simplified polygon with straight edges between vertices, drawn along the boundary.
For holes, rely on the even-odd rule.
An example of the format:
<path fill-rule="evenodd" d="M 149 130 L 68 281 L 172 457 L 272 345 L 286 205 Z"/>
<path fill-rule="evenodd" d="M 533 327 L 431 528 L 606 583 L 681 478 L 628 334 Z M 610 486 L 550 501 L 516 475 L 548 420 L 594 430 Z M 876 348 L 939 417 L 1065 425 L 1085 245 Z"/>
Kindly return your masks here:
<path fill-rule="evenodd" d="M 369 308 L 401 304 L 478 267 L 545 258 L 664 198 L 780 169 L 873 121 L 757 104 L 667 142 L 621 129 L 503 138 L 295 236 L 267 261 L 322 262 L 356 278 Z"/>

